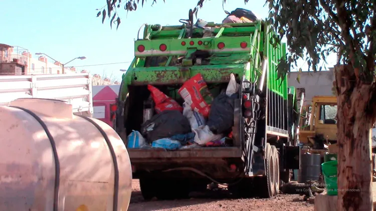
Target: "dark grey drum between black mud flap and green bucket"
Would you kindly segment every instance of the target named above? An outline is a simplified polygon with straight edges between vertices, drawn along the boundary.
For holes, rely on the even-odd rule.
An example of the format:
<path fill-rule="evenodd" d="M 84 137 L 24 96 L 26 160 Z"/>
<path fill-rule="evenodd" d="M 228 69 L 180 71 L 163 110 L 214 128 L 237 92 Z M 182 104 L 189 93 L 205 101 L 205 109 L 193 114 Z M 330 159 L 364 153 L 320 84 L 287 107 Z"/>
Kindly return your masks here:
<path fill-rule="evenodd" d="M 321 173 L 321 155 L 301 154 L 298 182 L 304 183 L 308 180 L 318 180 Z"/>

